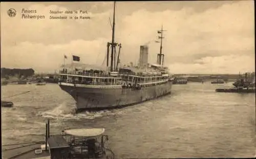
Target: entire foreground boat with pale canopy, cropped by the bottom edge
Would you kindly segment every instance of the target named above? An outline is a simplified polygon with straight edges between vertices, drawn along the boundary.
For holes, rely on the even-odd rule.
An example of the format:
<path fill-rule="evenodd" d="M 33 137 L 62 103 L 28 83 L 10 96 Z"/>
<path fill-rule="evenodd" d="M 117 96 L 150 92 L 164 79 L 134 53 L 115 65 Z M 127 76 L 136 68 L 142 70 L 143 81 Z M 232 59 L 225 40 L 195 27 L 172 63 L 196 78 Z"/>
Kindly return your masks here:
<path fill-rule="evenodd" d="M 104 128 L 81 128 L 63 130 L 62 134 L 50 135 L 49 120 L 46 123 L 46 140 L 3 145 L 2 153 L 6 159 L 32 158 L 108 158 L 114 153 L 108 146 L 108 135 Z"/>

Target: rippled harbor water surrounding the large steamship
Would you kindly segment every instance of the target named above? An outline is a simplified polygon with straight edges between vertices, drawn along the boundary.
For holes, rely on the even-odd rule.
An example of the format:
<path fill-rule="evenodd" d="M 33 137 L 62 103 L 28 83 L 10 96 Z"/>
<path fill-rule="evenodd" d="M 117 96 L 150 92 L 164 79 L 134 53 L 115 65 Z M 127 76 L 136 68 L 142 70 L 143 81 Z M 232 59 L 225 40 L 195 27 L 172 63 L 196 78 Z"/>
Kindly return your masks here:
<path fill-rule="evenodd" d="M 172 95 L 156 100 L 78 114 L 75 101 L 57 84 L 5 85 L 2 100 L 14 106 L 2 107 L 2 142 L 44 140 L 49 118 L 52 134 L 104 127 L 116 158 L 253 157 L 255 94 L 215 92 L 231 85 L 173 85 Z"/>

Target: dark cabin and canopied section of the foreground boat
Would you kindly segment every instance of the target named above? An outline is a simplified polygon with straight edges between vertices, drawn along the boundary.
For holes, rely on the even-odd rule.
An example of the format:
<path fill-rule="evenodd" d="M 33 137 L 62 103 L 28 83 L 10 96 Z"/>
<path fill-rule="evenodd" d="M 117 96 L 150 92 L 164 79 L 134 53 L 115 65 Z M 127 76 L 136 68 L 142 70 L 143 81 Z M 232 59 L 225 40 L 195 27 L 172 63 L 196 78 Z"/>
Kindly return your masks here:
<path fill-rule="evenodd" d="M 62 135 L 51 136 L 48 139 L 51 159 L 104 158 L 108 141 L 104 131 L 104 128 L 70 129 L 62 131 Z"/>

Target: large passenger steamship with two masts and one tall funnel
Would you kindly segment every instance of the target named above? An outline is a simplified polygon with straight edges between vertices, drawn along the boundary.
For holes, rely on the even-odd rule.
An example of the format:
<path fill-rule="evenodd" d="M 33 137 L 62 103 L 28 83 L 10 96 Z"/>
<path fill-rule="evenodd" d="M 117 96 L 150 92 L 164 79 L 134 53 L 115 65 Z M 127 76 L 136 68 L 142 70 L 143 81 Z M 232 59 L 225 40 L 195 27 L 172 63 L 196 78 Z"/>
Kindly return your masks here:
<path fill-rule="evenodd" d="M 140 46 L 137 66 L 118 66 L 121 43 L 115 42 L 114 39 L 114 2 L 112 42 L 107 43 L 106 69 L 72 63 L 71 69 L 63 68 L 59 73 L 60 88 L 75 99 L 77 111 L 121 108 L 169 95 L 173 78 L 168 67 L 163 66 L 163 32 L 163 27 L 157 32 L 160 41 L 156 42 L 161 43 L 157 64 L 147 62 L 148 46 Z M 73 55 L 73 61 L 80 61 L 80 57 Z"/>

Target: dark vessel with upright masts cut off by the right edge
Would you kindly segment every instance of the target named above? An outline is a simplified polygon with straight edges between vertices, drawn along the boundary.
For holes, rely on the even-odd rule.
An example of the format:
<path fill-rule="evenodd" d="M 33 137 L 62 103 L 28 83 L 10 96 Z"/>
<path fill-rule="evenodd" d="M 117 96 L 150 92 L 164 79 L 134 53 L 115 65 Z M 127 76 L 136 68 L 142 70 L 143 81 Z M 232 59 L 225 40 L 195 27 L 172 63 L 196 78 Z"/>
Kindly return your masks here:
<path fill-rule="evenodd" d="M 252 75 L 253 76 L 253 75 Z M 248 73 L 245 73 L 245 77 L 241 77 L 239 75 L 239 78 L 236 82 L 233 83 L 233 86 L 235 88 L 229 88 L 229 89 L 216 89 L 216 92 L 226 92 L 226 93 L 255 93 L 255 77 L 249 80 L 248 79 Z"/>

